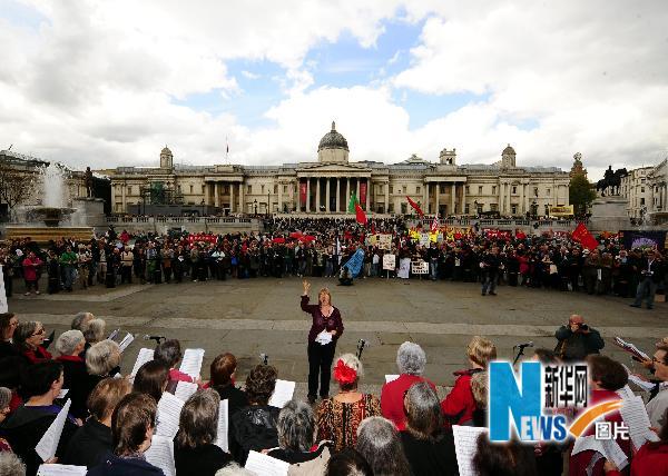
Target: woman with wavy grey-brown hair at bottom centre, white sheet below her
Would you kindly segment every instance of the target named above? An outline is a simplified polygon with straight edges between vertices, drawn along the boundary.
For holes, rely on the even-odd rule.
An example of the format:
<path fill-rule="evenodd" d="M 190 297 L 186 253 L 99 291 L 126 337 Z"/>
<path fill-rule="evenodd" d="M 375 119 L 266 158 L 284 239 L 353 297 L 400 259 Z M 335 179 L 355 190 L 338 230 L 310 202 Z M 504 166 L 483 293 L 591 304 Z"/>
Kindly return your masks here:
<path fill-rule="evenodd" d="M 269 449 L 273 458 L 287 462 L 299 474 L 323 474 L 330 460 L 328 443 L 315 445 L 316 427 L 313 408 L 306 401 L 289 400 L 278 414 L 278 448 Z"/>

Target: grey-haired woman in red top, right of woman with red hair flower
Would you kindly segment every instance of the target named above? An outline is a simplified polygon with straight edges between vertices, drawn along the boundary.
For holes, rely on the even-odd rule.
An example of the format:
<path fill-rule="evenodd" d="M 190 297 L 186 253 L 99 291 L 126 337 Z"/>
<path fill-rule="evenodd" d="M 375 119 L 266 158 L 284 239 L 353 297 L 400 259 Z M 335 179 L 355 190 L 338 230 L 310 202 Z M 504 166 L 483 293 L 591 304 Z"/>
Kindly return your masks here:
<path fill-rule="evenodd" d="M 422 377 L 426 365 L 426 354 L 415 343 L 405 341 L 396 351 L 399 378 L 383 385 L 381 390 L 381 409 L 383 416 L 394 423 L 397 430 L 405 428 L 406 417 L 403 399 L 406 390 L 416 381 L 426 381 L 434 390 L 436 386 Z"/>

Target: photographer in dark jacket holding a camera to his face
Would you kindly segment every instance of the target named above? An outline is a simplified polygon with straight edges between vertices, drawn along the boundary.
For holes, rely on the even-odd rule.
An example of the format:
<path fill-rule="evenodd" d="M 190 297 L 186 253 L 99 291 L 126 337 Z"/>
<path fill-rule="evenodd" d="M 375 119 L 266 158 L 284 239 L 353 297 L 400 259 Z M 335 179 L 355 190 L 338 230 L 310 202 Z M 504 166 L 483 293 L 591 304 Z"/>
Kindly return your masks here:
<path fill-rule="evenodd" d="M 606 346 L 599 331 L 584 324 L 584 318 L 578 314 L 568 319 L 568 325 L 557 329 L 554 337 L 559 340 L 554 353 L 564 361 L 584 360 Z"/>

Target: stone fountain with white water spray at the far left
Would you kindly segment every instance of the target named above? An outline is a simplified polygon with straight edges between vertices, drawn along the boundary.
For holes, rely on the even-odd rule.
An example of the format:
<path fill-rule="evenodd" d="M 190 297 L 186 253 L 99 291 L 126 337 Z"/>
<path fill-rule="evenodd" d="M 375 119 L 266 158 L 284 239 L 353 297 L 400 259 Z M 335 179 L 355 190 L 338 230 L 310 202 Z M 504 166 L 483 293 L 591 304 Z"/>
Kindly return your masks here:
<path fill-rule="evenodd" d="M 75 198 L 77 207 L 69 206 L 67 187 L 68 171 L 58 163 L 49 163 L 39 171 L 33 188 L 33 202 L 17 210 L 14 222 L 7 227 L 7 238 L 31 238 L 39 244 L 59 238 L 87 240 L 94 236 L 92 227 L 75 226 L 72 217 L 85 215 L 91 206 L 101 211 L 101 200 L 95 198 Z M 92 214 L 95 215 L 95 214 Z M 91 225 L 88 220 L 77 220 L 77 225 Z"/>

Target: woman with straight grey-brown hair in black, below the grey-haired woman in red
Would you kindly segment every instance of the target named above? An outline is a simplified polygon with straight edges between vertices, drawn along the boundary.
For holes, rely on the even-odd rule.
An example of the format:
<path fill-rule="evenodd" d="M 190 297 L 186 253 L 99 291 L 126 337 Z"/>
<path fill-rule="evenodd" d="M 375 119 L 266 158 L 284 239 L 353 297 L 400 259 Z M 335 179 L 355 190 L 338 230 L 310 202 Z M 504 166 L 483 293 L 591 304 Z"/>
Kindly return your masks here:
<path fill-rule="evenodd" d="M 443 427 L 441 403 L 426 383 L 413 384 L 404 398 L 406 428 L 400 433 L 413 476 L 455 475 L 452 430 Z"/>

